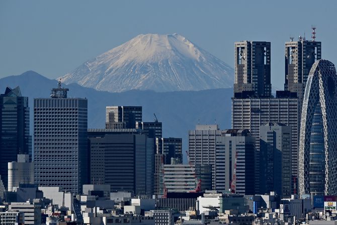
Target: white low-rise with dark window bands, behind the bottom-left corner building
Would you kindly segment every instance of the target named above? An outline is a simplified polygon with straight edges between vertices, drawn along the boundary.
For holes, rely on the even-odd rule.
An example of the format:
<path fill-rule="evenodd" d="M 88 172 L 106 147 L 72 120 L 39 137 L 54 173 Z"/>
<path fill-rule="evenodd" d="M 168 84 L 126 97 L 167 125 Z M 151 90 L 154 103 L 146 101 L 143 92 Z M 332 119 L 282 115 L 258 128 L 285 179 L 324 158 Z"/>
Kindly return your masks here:
<path fill-rule="evenodd" d="M 25 224 L 41 225 L 41 205 L 30 202 L 15 202 L 8 206 L 9 212 L 23 212 Z"/>

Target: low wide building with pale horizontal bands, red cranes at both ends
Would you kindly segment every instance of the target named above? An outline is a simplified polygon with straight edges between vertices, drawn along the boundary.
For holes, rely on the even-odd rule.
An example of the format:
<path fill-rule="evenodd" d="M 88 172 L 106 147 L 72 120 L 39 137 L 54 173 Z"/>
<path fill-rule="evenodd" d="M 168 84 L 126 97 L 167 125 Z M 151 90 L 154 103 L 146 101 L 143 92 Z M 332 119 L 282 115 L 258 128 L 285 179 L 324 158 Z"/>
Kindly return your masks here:
<path fill-rule="evenodd" d="M 212 189 L 211 165 L 163 165 L 160 194 Z"/>

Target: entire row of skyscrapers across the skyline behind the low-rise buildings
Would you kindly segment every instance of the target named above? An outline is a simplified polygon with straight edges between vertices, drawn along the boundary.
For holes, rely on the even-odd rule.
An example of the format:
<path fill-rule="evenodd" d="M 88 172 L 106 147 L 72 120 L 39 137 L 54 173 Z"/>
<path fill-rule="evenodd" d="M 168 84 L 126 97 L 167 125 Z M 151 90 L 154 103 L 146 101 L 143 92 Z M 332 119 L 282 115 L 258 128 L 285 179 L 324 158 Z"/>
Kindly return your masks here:
<path fill-rule="evenodd" d="M 321 59 L 321 43 L 285 43 L 284 90 L 275 94 L 270 42 L 235 42 L 234 67 L 232 127 L 189 130 L 188 164 L 182 138 L 163 137 L 155 115 L 143 121 L 142 106 L 106 106 L 105 127 L 88 129 L 90 103 L 68 98 L 60 82 L 50 98 L 34 99 L 32 154 L 28 98 L 7 88 L 0 96 L 0 189 L 36 184 L 81 193 L 83 184 L 106 184 L 142 196 L 337 194 L 337 75 Z"/>

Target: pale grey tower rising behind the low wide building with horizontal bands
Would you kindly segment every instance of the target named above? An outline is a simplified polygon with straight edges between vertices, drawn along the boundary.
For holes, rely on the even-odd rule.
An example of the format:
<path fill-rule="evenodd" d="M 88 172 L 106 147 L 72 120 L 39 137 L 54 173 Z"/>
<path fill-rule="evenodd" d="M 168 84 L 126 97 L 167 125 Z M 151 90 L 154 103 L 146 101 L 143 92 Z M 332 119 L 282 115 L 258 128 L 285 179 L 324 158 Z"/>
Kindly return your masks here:
<path fill-rule="evenodd" d="M 212 188 L 214 188 L 215 141 L 221 135 L 218 125 L 196 125 L 189 130 L 189 163 L 212 166 Z"/>

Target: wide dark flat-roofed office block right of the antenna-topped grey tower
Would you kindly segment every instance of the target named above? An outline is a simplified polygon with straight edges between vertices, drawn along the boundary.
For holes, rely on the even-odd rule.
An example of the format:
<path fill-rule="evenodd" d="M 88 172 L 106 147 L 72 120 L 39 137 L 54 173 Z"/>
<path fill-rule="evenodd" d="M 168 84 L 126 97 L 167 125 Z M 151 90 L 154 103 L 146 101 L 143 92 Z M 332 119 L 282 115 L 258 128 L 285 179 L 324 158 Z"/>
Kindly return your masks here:
<path fill-rule="evenodd" d="M 90 183 L 152 195 L 153 138 L 137 129 L 89 129 Z"/>

